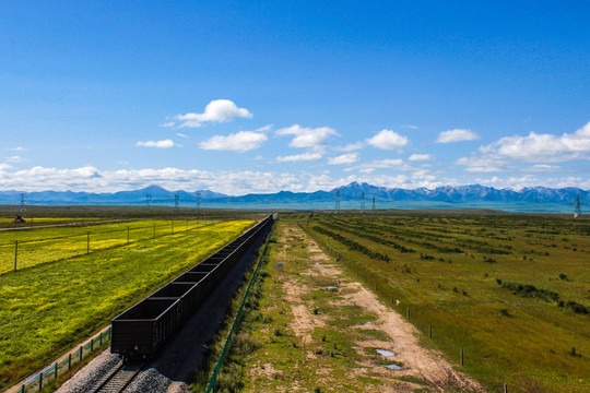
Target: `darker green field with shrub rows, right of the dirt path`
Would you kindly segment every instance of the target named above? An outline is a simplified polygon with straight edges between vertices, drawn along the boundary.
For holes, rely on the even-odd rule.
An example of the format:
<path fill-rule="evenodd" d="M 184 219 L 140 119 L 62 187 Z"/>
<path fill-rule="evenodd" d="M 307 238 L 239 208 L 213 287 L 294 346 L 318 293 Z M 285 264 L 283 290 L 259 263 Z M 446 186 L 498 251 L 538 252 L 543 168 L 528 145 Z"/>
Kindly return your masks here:
<path fill-rule="evenodd" d="M 283 215 L 283 218 L 287 216 Z M 493 391 L 590 391 L 590 221 L 291 216 Z M 430 341 L 425 341 L 429 345 Z M 516 388 L 516 389 L 515 389 Z"/>

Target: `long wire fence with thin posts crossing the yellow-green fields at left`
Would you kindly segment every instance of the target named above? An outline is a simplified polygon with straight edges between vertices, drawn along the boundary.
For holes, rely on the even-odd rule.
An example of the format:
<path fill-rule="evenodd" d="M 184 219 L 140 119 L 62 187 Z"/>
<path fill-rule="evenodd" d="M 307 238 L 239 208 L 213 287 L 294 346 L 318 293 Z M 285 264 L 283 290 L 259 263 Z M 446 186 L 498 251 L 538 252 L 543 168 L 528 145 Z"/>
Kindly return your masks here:
<path fill-rule="evenodd" d="M 0 243 L 0 274 L 198 229 L 214 223 L 211 221 L 170 221 L 165 224 L 148 225 L 141 223 L 122 228 L 101 230 L 95 227 L 93 231 L 3 242 Z"/>

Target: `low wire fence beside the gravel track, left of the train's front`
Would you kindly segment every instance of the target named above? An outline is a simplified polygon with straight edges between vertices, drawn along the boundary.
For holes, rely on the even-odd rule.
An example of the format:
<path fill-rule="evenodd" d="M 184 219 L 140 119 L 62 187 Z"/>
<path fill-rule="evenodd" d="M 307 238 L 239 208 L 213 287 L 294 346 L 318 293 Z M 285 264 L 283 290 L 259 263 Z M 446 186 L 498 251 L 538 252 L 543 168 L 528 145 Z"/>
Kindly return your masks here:
<path fill-rule="evenodd" d="M 40 392 L 44 386 L 57 381 L 59 376 L 67 373 L 74 366 L 82 362 L 85 358 L 96 353 L 98 349 L 107 346 L 110 343 L 110 327 L 92 337 L 88 342 L 82 344 L 78 349 L 69 353 L 66 357 L 56 361 L 54 365 L 46 367 L 36 374 L 24 380 L 19 390 L 19 393 Z"/>

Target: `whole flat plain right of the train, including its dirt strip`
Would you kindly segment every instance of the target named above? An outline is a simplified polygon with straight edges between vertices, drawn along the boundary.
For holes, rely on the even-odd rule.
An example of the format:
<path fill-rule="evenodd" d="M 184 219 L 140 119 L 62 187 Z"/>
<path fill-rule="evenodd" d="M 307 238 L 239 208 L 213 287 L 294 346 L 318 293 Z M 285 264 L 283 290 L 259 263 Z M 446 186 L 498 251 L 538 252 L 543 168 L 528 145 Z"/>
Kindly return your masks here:
<path fill-rule="evenodd" d="M 588 392 L 588 235 L 557 215 L 282 214 L 221 389 Z"/>

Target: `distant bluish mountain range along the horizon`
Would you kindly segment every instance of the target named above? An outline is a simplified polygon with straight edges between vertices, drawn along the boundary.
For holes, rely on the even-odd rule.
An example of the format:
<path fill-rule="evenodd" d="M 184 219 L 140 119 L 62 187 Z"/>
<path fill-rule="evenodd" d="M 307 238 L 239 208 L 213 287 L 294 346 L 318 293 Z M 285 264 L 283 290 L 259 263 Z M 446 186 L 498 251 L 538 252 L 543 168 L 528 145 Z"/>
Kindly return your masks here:
<path fill-rule="evenodd" d="M 371 199 L 376 201 L 434 201 L 446 203 L 476 203 L 476 202 L 527 202 L 527 203 L 552 203 L 574 204 L 576 195 L 580 195 L 580 202 L 587 204 L 590 191 L 577 188 L 552 189 L 545 187 L 524 188 L 520 191 L 510 189 L 495 189 L 480 184 L 473 186 L 446 186 L 434 190 L 418 188 L 414 190 L 385 187 L 376 187 L 367 183 L 352 182 L 349 186 L 335 188 L 331 191 L 316 192 L 291 192 L 280 191 L 269 194 L 246 194 L 231 196 L 209 190 L 168 191 L 157 186 L 135 191 L 119 191 L 114 193 L 72 192 L 72 191 L 42 191 L 26 193 L 27 204 L 36 205 L 140 205 L 146 204 L 148 195 L 151 195 L 154 205 L 173 205 L 175 195 L 178 195 L 180 204 L 196 203 L 196 193 L 201 193 L 201 201 L 215 204 L 238 205 L 245 203 L 317 203 L 333 202 L 337 191 L 340 191 L 341 201 L 359 200 L 364 193 L 367 207 Z M 19 204 L 21 191 L 0 191 L 0 204 Z"/>

